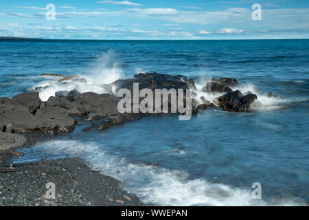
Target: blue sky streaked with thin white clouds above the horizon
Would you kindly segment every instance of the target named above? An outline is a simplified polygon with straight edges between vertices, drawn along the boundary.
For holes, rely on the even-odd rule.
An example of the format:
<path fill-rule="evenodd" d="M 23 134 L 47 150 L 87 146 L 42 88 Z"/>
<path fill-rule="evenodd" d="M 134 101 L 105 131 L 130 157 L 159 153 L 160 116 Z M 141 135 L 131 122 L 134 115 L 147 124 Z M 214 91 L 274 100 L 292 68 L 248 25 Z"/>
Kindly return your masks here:
<path fill-rule="evenodd" d="M 56 20 L 45 6 L 56 6 Z M 253 3 L 262 20 L 253 21 Z M 0 2 L 0 36 L 44 39 L 299 39 L 309 38 L 309 1 Z"/>

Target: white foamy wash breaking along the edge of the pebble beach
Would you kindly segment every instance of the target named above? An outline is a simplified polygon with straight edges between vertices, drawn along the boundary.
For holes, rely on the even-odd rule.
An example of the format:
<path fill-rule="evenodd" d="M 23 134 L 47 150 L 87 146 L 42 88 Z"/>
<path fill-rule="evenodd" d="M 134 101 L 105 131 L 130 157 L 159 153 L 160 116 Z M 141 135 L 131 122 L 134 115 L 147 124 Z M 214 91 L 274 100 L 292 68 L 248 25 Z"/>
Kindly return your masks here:
<path fill-rule="evenodd" d="M 169 170 L 145 164 L 132 164 L 126 158 L 104 152 L 104 144 L 76 140 L 54 140 L 37 144 L 35 151 L 55 157 L 79 156 L 92 168 L 123 182 L 129 192 L 137 193 L 144 203 L 159 206 L 268 206 L 262 199 L 251 198 L 251 188 L 232 188 L 205 179 L 188 179 L 181 170 Z M 296 206 L 293 201 L 275 205 Z"/>

